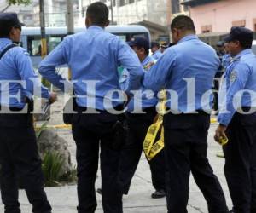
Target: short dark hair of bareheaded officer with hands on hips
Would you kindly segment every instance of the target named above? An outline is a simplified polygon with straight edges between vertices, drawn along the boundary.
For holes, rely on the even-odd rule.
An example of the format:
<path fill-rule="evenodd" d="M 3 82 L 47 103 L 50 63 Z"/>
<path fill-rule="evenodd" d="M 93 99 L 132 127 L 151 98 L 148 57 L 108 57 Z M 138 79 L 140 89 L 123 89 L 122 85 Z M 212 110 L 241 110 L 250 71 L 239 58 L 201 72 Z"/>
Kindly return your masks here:
<path fill-rule="evenodd" d="M 86 16 L 90 17 L 92 24 L 103 26 L 108 23 L 108 7 L 105 3 L 91 3 L 86 11 Z"/>

